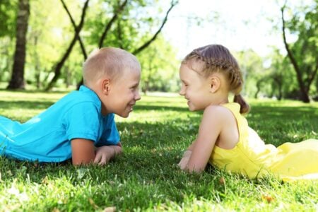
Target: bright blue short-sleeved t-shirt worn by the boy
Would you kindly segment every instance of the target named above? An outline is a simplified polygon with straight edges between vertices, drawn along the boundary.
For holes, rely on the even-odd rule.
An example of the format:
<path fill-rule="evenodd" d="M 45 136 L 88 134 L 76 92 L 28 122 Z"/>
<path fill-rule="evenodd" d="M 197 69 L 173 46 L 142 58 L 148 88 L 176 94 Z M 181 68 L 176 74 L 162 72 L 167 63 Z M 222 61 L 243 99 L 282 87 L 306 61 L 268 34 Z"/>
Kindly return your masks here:
<path fill-rule="evenodd" d="M 86 86 L 23 124 L 0 117 L 0 155 L 61 162 L 71 158 L 71 139 L 89 139 L 95 146 L 120 140 L 114 114 L 103 116 L 98 95 Z"/>

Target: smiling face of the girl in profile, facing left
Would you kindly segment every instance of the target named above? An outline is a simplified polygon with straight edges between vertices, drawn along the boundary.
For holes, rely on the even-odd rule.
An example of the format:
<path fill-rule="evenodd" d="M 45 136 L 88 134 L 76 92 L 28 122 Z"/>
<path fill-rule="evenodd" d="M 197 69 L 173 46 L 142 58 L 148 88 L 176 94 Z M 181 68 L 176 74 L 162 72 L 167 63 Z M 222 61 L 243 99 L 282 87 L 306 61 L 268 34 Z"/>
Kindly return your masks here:
<path fill-rule="evenodd" d="M 211 84 L 208 78 L 199 75 L 199 73 L 190 69 L 186 64 L 180 66 L 179 77 L 182 81 L 179 94 L 184 95 L 184 98 L 188 100 L 189 110 L 204 110 L 211 104 Z"/>

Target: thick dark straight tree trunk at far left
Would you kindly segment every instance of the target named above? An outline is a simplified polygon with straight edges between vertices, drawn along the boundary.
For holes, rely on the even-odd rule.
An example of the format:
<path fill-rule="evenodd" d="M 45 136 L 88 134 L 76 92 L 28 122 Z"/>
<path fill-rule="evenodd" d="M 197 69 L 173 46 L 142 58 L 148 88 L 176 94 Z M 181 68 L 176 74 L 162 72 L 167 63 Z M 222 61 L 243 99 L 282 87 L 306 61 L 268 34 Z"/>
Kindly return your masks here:
<path fill-rule="evenodd" d="M 14 53 L 13 70 L 8 89 L 25 89 L 24 65 L 26 52 L 26 35 L 30 16 L 29 0 L 19 0 L 16 22 L 16 52 Z"/>

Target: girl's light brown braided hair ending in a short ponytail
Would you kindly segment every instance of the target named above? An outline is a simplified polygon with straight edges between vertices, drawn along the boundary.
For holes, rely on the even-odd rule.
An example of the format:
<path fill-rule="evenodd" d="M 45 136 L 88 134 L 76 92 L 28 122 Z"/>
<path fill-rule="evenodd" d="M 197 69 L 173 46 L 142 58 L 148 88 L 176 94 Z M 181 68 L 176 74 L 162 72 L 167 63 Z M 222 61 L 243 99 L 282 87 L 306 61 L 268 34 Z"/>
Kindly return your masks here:
<path fill-rule="evenodd" d="M 228 78 L 230 91 L 234 93 L 234 102 L 241 105 L 240 113 L 249 112 L 249 105 L 245 102 L 240 92 L 243 86 L 242 72 L 235 57 L 222 45 L 207 45 L 194 49 L 182 61 L 182 64 L 199 66 L 200 70 L 194 70 L 204 76 L 210 76 L 214 72 L 225 73 Z M 192 67 L 193 69 L 193 67 Z"/>

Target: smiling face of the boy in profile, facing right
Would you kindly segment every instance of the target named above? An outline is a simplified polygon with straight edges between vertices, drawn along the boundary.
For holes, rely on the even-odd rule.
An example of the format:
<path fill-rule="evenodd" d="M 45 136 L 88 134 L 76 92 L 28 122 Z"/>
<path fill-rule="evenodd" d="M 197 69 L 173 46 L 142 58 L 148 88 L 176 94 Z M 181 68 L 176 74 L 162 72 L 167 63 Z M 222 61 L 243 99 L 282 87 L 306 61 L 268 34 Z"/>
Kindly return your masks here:
<path fill-rule="evenodd" d="M 124 70 L 122 76 L 110 81 L 110 92 L 103 104 L 107 113 L 113 112 L 121 117 L 128 117 L 139 95 L 139 70 Z"/>

